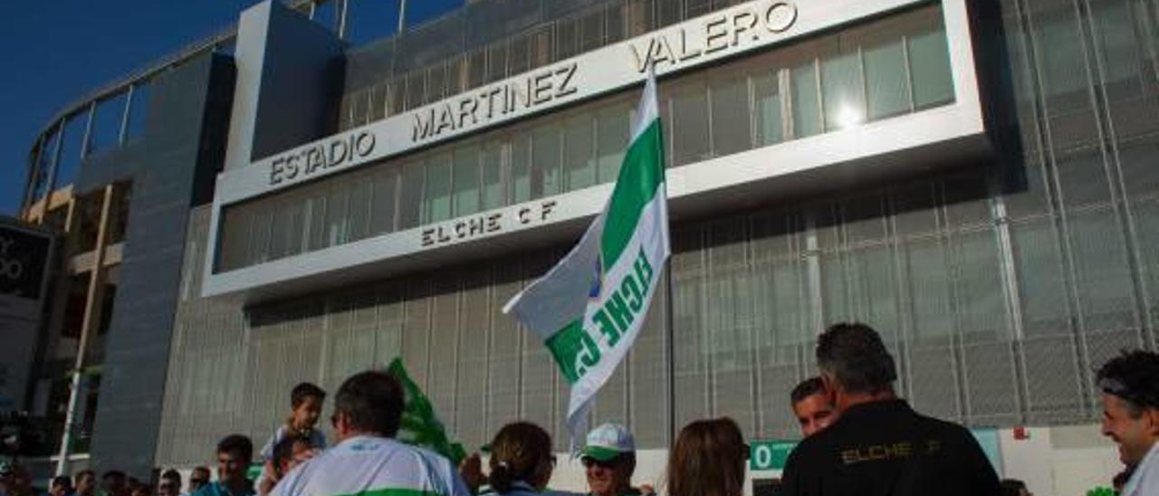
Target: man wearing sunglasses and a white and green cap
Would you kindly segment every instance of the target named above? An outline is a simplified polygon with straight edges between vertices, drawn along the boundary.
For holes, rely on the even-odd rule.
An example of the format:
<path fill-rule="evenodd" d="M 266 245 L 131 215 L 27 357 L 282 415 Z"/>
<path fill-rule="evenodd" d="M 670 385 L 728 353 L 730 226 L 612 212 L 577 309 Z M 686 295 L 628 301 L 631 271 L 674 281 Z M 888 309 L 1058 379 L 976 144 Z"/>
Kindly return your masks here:
<path fill-rule="evenodd" d="M 636 443 L 620 424 L 606 423 L 588 433 L 581 461 L 591 496 L 633 496 L 644 493 L 632 487 L 636 469 Z M 651 494 L 649 490 L 648 494 Z"/>

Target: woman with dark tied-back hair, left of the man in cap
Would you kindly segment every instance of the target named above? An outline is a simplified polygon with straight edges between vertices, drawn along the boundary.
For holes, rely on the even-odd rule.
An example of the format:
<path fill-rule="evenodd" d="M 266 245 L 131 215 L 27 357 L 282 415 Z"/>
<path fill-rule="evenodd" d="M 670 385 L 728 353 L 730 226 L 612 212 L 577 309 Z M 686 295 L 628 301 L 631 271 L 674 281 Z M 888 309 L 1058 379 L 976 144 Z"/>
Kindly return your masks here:
<path fill-rule="evenodd" d="M 515 422 L 500 429 L 491 442 L 490 455 L 490 494 L 539 494 L 555 469 L 552 437 L 530 422 Z"/>

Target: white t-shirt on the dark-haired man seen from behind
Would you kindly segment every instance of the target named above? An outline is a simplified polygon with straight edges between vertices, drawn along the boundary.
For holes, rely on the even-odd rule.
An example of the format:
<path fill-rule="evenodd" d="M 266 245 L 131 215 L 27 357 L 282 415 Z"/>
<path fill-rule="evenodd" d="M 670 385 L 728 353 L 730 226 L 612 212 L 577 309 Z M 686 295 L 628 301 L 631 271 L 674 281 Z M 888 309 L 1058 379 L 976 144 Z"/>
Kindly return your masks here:
<path fill-rule="evenodd" d="M 469 496 L 451 460 L 381 437 L 352 437 L 291 471 L 271 495 Z M 408 493 L 409 491 L 409 493 Z"/>

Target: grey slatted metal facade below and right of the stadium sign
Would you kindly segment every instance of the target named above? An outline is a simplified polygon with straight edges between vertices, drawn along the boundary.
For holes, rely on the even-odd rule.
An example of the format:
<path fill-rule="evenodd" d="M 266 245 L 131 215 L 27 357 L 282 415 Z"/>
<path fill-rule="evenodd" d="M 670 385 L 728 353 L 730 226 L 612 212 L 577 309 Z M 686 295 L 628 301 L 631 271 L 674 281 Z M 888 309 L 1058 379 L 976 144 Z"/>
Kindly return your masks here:
<path fill-rule="evenodd" d="M 1159 5 L 975 6 L 997 158 L 676 219 L 675 357 L 661 296 L 596 421 L 627 423 L 644 448 L 670 442 L 672 403 L 676 426 L 728 415 L 750 438 L 795 437 L 788 391 L 840 320 L 882 331 L 919 411 L 972 426 L 1098 420 L 1092 371 L 1156 348 Z M 194 220 L 187 253 L 204 249 L 206 212 Z M 204 464 L 232 431 L 262 442 L 297 381 L 333 392 L 394 356 L 469 447 L 526 418 L 562 448 L 566 385 L 498 308 L 566 248 L 245 311 L 196 298 L 202 258 L 187 258 L 156 464 Z"/>

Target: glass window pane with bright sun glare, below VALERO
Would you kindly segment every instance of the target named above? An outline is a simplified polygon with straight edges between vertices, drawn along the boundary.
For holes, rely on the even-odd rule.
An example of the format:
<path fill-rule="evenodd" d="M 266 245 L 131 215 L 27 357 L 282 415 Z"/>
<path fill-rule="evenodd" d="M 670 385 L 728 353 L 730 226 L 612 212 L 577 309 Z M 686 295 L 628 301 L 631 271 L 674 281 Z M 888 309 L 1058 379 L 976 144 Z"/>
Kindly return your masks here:
<path fill-rule="evenodd" d="M 861 67 L 855 49 L 822 60 L 821 82 L 825 92 L 822 102 L 826 130 L 853 127 L 865 122 Z"/>

